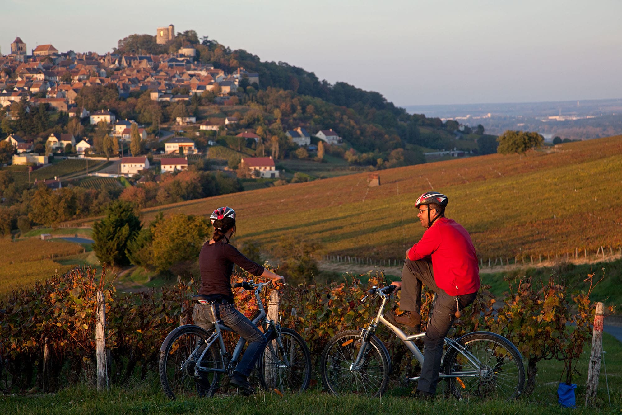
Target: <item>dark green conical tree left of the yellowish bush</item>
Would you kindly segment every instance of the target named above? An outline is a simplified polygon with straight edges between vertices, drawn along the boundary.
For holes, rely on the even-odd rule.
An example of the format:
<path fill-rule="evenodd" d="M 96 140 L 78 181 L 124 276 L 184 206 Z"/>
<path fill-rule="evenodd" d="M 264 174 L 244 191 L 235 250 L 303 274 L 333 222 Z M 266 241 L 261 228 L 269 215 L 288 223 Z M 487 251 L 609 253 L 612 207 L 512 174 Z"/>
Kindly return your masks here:
<path fill-rule="evenodd" d="M 114 201 L 106 217 L 93 224 L 93 250 L 104 265 L 128 265 L 128 244 L 141 231 L 141 221 L 133 204 Z"/>

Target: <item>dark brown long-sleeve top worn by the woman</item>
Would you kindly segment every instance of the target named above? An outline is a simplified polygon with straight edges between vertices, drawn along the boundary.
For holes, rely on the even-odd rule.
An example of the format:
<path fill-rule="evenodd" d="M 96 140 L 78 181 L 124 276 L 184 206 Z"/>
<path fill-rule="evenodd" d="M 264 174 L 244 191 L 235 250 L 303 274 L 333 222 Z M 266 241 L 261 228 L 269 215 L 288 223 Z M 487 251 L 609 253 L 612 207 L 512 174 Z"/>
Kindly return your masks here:
<path fill-rule="evenodd" d="M 256 277 L 264 273 L 264 267 L 242 255 L 236 247 L 224 241 L 211 245 L 210 242 L 205 242 L 198 255 L 198 265 L 201 271 L 201 288 L 198 293 L 213 295 L 213 298 L 226 298 L 233 302 L 231 291 L 233 264 Z"/>

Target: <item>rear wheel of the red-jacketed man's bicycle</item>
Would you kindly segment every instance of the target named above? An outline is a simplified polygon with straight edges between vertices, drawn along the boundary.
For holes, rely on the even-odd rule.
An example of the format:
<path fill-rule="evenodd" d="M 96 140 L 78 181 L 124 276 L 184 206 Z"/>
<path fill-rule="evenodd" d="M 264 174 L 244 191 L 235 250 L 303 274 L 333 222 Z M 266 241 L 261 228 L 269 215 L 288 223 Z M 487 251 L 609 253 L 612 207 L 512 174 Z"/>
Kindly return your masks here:
<path fill-rule="evenodd" d="M 525 369 L 516 346 L 494 333 L 468 333 L 458 339 L 481 362 L 475 367 L 455 348 L 450 348 L 443 359 L 443 371 L 476 371 L 478 376 L 447 378 L 449 393 L 457 399 L 511 400 L 522 393 Z"/>

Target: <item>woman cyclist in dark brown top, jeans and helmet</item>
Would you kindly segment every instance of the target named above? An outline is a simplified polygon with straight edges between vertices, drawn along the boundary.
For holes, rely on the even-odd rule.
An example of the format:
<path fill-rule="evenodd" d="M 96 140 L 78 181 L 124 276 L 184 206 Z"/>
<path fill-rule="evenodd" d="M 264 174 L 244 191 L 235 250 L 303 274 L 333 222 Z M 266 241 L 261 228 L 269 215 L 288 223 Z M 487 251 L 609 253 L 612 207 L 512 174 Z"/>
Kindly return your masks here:
<path fill-rule="evenodd" d="M 208 332 L 213 330 L 214 322 L 221 320 L 248 342 L 246 351 L 231 377 L 231 384 L 238 386 L 241 394 L 254 394 L 248 375 L 266 347 L 267 340 L 259 328 L 234 307 L 231 291 L 233 264 L 256 277 L 275 281 L 284 278 L 251 261 L 229 244 L 231 236 L 235 233 L 235 211 L 231 207 L 219 207 L 211 214 L 210 219 L 214 233 L 211 240 L 203 244 L 199 254 L 201 289 L 198 293 L 207 295 L 208 300 L 214 303 L 216 315 L 210 315 L 209 304 L 197 303 L 192 312 L 192 319 L 196 325 Z"/>

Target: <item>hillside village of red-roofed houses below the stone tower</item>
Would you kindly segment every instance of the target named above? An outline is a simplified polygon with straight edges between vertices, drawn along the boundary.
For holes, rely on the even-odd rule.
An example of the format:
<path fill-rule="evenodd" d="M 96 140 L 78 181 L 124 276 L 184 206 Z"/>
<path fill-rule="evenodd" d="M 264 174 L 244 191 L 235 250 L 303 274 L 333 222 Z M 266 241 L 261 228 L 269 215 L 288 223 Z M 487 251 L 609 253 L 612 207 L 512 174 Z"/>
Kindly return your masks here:
<path fill-rule="evenodd" d="M 157 42 L 164 44 L 174 37 L 174 27 L 160 28 L 157 32 Z M 118 91 L 119 99 L 131 97 L 132 94 L 148 93 L 149 98 L 158 103 L 185 103 L 188 105 L 194 97 L 201 97 L 205 93 L 213 95 L 216 105 L 233 105 L 237 101 L 236 92 L 240 85 L 251 86 L 259 90 L 259 75 L 238 67 L 231 73 L 223 69 L 215 69 L 213 64 L 201 63 L 196 59 L 197 50 L 190 45 L 181 47 L 177 53 L 164 55 L 119 55 L 108 53 L 98 55 L 93 52 L 77 54 L 75 52 L 59 52 L 53 45 L 38 45 L 27 54 L 27 45 L 20 37 L 16 37 L 11 44 L 11 54 L 0 58 L 0 108 L 4 109 L 7 120 L 19 119 L 19 110 L 32 112 L 39 105 L 47 105 L 52 111 L 67 113 L 70 118 L 78 118 L 81 123 L 97 126 L 106 123 L 109 126 L 109 136 L 118 140 L 112 145 L 118 151 L 119 143 L 130 143 L 132 125 L 135 120 L 122 119 L 119 114 L 106 109 L 89 111 L 80 101 L 80 93 L 85 87 L 107 87 Z M 183 92 L 183 93 L 182 93 Z M 82 105 L 80 105 L 82 103 Z M 20 107 L 21 108 L 18 108 Z M 180 107 L 181 108 L 181 107 Z M 215 133 L 235 130 L 238 117 L 205 117 L 197 122 L 197 116 L 189 115 L 181 110 L 179 117 L 174 117 L 174 125 L 186 128 L 198 126 L 198 131 Z M 153 125 L 137 124 L 141 148 L 147 146 L 147 127 L 154 130 Z M 6 128 L 8 130 L 8 128 Z M 178 130 L 179 131 L 179 130 Z M 197 135 L 199 135 L 197 131 Z M 4 131 L 9 132 L 9 131 Z M 317 146 L 312 145 L 311 135 L 304 126 L 297 126 L 292 130 L 285 130 L 285 136 L 290 143 L 304 146 L 306 150 L 315 151 Z M 251 139 L 258 143 L 261 140 L 255 131 L 245 130 L 236 135 L 244 139 Z M 330 126 L 318 130 L 315 136 L 318 140 L 330 145 L 338 145 L 341 138 Z M 16 154 L 12 157 L 13 165 L 42 166 L 49 163 L 48 156 L 53 153 L 62 155 L 88 156 L 102 153 L 95 148 L 93 139 L 87 136 L 75 136 L 72 133 L 51 133 L 44 139 L 45 151 L 42 146 L 35 148 L 37 137 L 20 136 L 11 133 L 4 138 L 14 146 Z M 208 145 L 215 145 L 216 141 L 208 140 Z M 101 145 L 99 146 L 101 147 Z M 36 150 L 36 151 L 35 151 Z M 98 151 L 99 150 L 99 151 Z M 155 150 L 155 149 L 154 149 Z M 190 138 L 174 137 L 166 140 L 164 153 L 166 155 L 203 154 L 205 148 L 198 149 L 195 141 Z M 106 151 L 106 156 L 114 156 L 117 151 Z M 139 151 L 147 153 L 147 151 Z M 162 151 L 159 151 L 162 153 Z M 136 154 L 132 153 L 136 156 Z M 124 154 L 121 154 L 123 157 Z M 277 178 L 278 172 L 274 169 L 274 161 L 266 163 L 253 161 L 246 157 L 246 163 L 262 173 L 259 176 Z M 141 160 L 146 160 L 142 158 Z M 269 158 L 271 160 L 271 158 Z M 187 161 L 186 161 L 187 163 Z M 140 163 L 148 168 L 148 163 Z M 186 164 L 187 165 L 187 164 Z M 120 174 L 136 174 L 140 171 L 135 160 L 121 161 Z M 271 167 L 271 168 L 270 168 Z M 265 171 L 270 170 L 266 174 Z M 169 168 L 162 167 L 162 171 Z"/>

